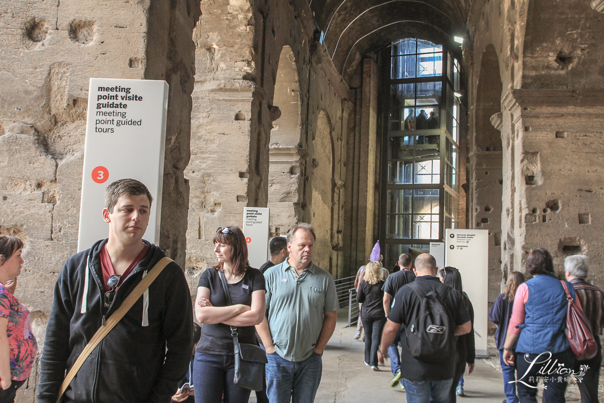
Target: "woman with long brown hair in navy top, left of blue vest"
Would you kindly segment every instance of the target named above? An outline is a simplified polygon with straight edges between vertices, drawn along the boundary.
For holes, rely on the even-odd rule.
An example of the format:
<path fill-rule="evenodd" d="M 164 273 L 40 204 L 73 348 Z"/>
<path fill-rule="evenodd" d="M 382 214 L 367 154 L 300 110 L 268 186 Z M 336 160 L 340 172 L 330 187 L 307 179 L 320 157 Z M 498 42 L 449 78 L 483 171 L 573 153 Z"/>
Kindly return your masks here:
<path fill-rule="evenodd" d="M 506 340 L 507 324 L 510 321 L 510 317 L 512 317 L 516 290 L 524 282 L 524 274 L 519 271 L 512 271 L 510 277 L 507 279 L 506 292 L 501 293 L 497 297 L 489 311 L 489 319 L 497 325 L 495 343 L 499 350 L 501 370 L 503 371 L 503 390 L 506 393 L 507 403 L 518 403 L 518 396 L 516 396 L 516 384 L 513 382 L 516 380 L 516 366 L 509 366 L 503 361 L 503 342 Z M 512 348 L 515 347 L 516 345 L 514 344 Z"/>

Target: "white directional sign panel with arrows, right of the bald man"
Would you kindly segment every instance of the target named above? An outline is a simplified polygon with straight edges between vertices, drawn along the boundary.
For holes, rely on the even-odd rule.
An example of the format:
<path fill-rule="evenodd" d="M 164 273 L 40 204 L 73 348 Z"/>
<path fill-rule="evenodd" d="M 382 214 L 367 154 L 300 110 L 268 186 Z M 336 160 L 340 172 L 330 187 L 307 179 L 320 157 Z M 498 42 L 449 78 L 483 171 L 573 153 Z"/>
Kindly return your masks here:
<path fill-rule="evenodd" d="M 488 356 L 489 231 L 446 230 L 445 264 L 461 273 L 463 291 L 474 306 L 476 355 Z"/>

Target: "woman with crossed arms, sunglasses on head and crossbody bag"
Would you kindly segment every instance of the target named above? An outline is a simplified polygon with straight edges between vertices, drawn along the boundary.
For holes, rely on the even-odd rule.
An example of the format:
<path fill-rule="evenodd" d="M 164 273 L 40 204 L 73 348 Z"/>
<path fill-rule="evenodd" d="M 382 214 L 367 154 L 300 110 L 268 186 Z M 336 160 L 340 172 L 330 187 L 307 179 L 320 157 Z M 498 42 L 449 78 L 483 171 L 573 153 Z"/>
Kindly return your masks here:
<path fill-rule="evenodd" d="M 255 325 L 265 315 L 265 277 L 249 266 L 245 236 L 237 227 L 218 228 L 214 235 L 217 265 L 199 278 L 195 317 L 204 326 L 197 344 L 193 380 L 196 403 L 247 402 L 250 390 L 233 383 L 236 326 L 239 343 L 258 344 Z M 224 274 L 233 305 L 228 305 L 220 278 Z"/>

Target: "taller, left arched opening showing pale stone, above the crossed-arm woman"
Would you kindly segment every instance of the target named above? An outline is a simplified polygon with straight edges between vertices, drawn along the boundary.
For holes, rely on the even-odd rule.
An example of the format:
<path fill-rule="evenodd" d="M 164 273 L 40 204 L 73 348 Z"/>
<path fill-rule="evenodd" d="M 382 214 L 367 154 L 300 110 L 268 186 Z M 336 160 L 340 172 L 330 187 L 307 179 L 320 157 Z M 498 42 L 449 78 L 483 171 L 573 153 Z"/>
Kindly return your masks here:
<path fill-rule="evenodd" d="M 284 235 L 300 218 L 300 82 L 292 48 L 281 49 L 269 141 L 268 207 L 271 236 Z"/>

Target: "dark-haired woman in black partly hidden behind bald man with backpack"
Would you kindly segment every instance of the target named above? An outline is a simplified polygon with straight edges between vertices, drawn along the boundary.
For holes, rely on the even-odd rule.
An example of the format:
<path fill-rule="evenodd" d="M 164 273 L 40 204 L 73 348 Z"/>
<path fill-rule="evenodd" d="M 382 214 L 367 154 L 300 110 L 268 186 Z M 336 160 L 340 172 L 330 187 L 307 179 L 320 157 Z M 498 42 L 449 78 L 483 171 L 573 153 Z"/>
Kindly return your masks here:
<path fill-rule="evenodd" d="M 460 385 L 460 379 L 466 370 L 468 375 L 474 370 L 474 361 L 476 358 L 475 350 L 475 339 L 474 339 L 474 307 L 467 297 L 467 294 L 463 292 L 463 285 L 461 284 L 461 273 L 458 269 L 446 266 L 443 269 L 439 269 L 438 276 L 440 281 L 445 283 L 451 288 L 456 289 L 461 295 L 463 295 L 463 302 L 466 305 L 467 313 L 470 314 L 470 320 L 472 321 L 471 332 L 456 336 L 457 343 L 455 344 L 455 376 L 453 377 L 453 383 L 451 384 L 451 390 L 449 391 L 449 403 L 455 403 L 457 401 L 457 395 L 463 396 L 463 384 Z M 457 389 L 460 389 L 459 391 Z M 460 392 L 460 393 L 457 393 Z"/>

